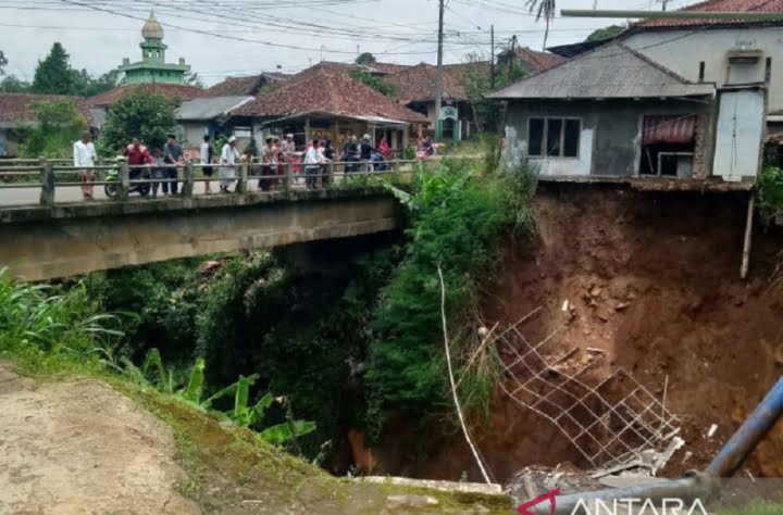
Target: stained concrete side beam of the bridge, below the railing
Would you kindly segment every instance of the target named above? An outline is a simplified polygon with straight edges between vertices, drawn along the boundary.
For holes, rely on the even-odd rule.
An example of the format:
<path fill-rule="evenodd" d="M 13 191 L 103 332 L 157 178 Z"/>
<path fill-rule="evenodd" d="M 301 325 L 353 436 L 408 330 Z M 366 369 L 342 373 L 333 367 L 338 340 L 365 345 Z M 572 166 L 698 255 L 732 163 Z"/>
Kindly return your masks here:
<path fill-rule="evenodd" d="M 134 199 L 0 210 L 0 267 L 47 280 L 126 265 L 393 230 L 382 188 Z"/>

